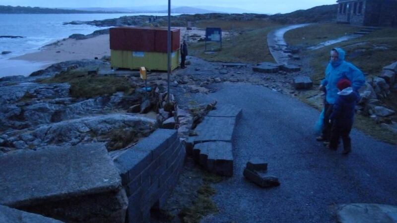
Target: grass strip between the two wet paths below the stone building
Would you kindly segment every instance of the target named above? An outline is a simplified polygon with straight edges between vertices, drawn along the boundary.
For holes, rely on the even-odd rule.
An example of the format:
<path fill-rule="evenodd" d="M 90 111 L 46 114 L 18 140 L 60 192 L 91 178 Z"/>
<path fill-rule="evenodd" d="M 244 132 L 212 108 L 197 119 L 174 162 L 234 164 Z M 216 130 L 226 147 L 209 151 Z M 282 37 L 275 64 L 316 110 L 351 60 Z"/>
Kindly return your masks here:
<path fill-rule="evenodd" d="M 286 32 L 284 39 L 288 45 L 308 47 L 353 34 L 360 29 L 357 26 L 336 23 L 313 24 Z"/>

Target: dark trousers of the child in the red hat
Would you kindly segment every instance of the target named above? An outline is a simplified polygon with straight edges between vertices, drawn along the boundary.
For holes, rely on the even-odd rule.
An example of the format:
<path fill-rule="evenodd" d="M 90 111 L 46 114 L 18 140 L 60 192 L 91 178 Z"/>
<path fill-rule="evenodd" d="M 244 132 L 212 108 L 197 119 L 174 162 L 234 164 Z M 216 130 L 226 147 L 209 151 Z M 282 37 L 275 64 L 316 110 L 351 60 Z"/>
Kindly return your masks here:
<path fill-rule="evenodd" d="M 338 147 L 339 138 L 343 141 L 343 150 L 351 149 L 350 131 L 352 123 L 333 123 L 331 128 L 330 148 L 336 149 Z"/>

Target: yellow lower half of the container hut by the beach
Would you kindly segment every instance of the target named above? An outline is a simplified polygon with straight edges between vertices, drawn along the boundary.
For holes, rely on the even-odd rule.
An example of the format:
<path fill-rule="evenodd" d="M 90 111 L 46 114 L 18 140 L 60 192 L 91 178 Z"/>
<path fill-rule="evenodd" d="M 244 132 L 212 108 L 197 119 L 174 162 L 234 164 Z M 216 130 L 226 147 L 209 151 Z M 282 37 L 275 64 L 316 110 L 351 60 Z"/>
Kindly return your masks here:
<path fill-rule="evenodd" d="M 167 53 L 111 50 L 110 56 L 114 68 L 139 69 L 144 66 L 148 70 L 167 71 Z M 171 70 L 178 64 L 179 50 L 171 54 Z"/>

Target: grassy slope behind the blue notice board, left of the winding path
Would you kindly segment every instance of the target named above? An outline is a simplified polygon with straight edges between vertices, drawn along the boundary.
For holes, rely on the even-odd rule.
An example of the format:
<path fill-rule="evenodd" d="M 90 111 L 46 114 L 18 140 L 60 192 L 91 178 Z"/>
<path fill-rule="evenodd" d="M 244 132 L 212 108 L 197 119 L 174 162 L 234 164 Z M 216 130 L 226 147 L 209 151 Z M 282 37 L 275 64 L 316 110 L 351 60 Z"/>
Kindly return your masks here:
<path fill-rule="evenodd" d="M 208 61 L 246 63 L 258 63 L 262 61 L 274 62 L 266 41 L 267 33 L 274 28 L 275 26 L 271 26 L 246 31 L 229 40 L 223 39 L 222 50 L 211 54 L 204 52 L 205 44 L 203 42 L 193 43 L 190 45 L 190 52 L 193 56 L 198 56 Z M 211 46 L 207 46 L 207 50 L 210 48 Z M 215 49 L 217 46 L 213 48 Z"/>

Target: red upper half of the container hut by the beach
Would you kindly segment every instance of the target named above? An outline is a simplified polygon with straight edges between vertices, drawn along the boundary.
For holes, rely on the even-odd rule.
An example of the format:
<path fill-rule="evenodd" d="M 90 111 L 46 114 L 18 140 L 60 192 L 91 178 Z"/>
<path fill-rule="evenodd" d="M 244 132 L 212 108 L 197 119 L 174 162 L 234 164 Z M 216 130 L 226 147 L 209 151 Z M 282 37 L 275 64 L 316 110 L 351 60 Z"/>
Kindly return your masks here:
<path fill-rule="evenodd" d="M 171 30 L 171 51 L 180 47 L 180 30 Z M 116 27 L 110 29 L 110 49 L 167 53 L 167 29 Z"/>

